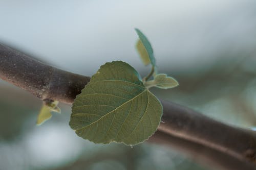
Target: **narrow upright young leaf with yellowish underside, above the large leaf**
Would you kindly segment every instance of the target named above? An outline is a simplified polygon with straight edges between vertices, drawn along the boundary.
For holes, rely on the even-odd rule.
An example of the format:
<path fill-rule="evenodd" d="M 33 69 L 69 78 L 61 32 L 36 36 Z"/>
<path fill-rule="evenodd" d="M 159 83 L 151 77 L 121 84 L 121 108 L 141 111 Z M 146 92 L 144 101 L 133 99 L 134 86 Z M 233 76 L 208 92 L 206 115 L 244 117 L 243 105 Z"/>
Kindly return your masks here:
<path fill-rule="evenodd" d="M 144 55 L 144 54 L 141 55 L 141 52 L 143 51 L 143 48 L 141 48 L 140 46 L 139 46 L 140 48 L 138 48 L 138 43 L 140 43 L 140 42 L 138 42 L 137 43 L 137 49 L 138 49 L 138 51 L 139 51 L 139 53 L 141 55 L 141 59 L 142 59 L 143 63 L 145 65 L 148 65 L 147 60 L 150 60 L 151 64 L 153 66 L 156 66 L 156 59 L 154 57 L 153 48 L 152 48 L 152 46 L 150 44 L 150 41 L 147 40 L 146 36 L 139 29 L 135 29 L 135 31 L 137 32 L 137 34 L 138 34 L 138 36 L 140 38 L 140 41 L 142 42 L 142 44 L 144 46 L 144 49 L 145 49 L 145 51 L 147 53 L 147 56 Z M 147 57 L 149 59 L 147 59 Z"/>

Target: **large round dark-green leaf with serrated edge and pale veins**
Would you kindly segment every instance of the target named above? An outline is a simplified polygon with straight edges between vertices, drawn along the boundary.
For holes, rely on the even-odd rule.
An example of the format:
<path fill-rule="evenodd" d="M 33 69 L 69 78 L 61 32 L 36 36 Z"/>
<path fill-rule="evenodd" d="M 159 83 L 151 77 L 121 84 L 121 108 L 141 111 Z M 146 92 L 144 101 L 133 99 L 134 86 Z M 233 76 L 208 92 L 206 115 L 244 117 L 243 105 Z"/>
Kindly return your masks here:
<path fill-rule="evenodd" d="M 148 91 L 138 72 L 122 61 L 100 67 L 76 96 L 70 127 L 95 143 L 137 144 L 159 126 L 162 105 Z"/>

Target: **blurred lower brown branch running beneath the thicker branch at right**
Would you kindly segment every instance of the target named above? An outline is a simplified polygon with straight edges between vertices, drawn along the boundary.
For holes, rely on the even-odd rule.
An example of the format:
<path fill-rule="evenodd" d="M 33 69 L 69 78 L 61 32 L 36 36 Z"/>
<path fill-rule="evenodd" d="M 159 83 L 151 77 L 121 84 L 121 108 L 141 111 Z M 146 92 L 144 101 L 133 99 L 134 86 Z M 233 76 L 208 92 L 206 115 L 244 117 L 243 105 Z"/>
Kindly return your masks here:
<path fill-rule="evenodd" d="M 255 165 L 247 160 L 237 159 L 227 153 L 207 147 L 203 144 L 184 139 L 158 130 L 148 139 L 149 142 L 167 145 L 170 148 L 184 153 L 191 159 L 205 165 L 210 169 L 241 170 L 255 169 Z"/>

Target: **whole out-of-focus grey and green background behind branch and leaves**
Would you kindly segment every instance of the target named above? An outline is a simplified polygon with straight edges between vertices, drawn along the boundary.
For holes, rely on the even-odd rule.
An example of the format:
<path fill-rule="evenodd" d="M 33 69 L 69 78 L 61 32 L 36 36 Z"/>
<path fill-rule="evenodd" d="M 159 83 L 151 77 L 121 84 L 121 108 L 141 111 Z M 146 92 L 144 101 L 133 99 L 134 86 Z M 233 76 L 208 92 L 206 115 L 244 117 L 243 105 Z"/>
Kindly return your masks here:
<path fill-rule="evenodd" d="M 0 42 L 47 64 L 92 76 L 122 60 L 142 76 L 134 28 L 151 41 L 159 72 L 180 86 L 152 91 L 224 123 L 256 127 L 256 2 L 0 0 Z M 0 169 L 210 169 L 144 142 L 94 144 L 69 127 L 71 106 L 36 126 L 42 102 L 0 81 Z"/>

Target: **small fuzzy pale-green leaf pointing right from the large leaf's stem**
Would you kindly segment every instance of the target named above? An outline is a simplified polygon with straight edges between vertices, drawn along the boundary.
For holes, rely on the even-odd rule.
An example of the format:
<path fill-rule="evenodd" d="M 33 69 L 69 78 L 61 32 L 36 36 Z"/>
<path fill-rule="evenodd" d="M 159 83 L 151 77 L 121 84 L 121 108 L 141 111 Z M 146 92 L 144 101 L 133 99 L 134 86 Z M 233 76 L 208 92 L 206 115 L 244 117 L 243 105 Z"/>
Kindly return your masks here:
<path fill-rule="evenodd" d="M 179 85 L 179 83 L 172 77 L 168 77 L 166 74 L 158 74 L 154 77 L 155 86 L 162 89 L 173 88 Z"/>

